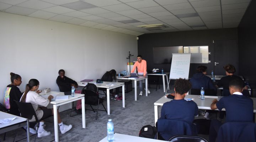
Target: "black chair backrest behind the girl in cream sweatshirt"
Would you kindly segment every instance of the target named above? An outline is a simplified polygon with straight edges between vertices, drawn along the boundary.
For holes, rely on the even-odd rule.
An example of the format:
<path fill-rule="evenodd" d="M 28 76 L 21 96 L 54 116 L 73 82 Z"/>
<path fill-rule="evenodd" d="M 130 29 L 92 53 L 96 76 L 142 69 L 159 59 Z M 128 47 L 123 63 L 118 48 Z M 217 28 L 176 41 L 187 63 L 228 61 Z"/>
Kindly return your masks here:
<path fill-rule="evenodd" d="M 36 121 L 38 122 L 36 112 L 34 111 L 31 103 L 18 102 L 16 100 L 14 101 L 16 102 L 18 109 L 20 110 L 21 117 L 31 120 L 34 116 Z"/>

